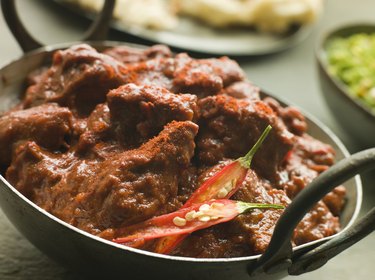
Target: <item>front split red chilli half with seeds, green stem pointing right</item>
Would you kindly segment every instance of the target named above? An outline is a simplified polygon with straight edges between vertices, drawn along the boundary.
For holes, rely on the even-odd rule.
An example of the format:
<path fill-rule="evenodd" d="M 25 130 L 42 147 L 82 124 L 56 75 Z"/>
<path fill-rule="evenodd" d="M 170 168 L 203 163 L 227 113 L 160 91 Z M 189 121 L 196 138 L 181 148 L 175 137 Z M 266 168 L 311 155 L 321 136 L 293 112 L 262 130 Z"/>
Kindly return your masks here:
<path fill-rule="evenodd" d="M 228 199 L 211 200 L 206 203 L 194 204 L 176 212 L 151 218 L 132 226 L 134 233 L 114 239 L 121 244 L 148 241 L 165 236 L 188 234 L 216 224 L 228 222 L 239 214 L 250 209 L 273 208 L 283 209 L 283 205 L 258 204 L 233 201 Z"/>

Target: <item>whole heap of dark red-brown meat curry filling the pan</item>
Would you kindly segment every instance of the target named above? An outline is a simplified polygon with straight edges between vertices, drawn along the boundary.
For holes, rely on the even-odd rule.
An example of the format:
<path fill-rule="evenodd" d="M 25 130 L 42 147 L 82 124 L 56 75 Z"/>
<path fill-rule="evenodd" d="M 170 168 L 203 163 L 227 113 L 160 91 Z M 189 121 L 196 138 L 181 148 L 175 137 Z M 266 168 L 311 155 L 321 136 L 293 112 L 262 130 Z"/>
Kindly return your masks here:
<path fill-rule="evenodd" d="M 43 209 L 109 240 L 181 208 L 267 125 L 273 129 L 233 199 L 288 205 L 334 162 L 297 109 L 261 99 L 226 57 L 193 59 L 165 46 L 99 53 L 82 44 L 56 51 L 49 68 L 31 75 L 20 104 L 0 117 L 1 170 Z M 344 202 L 337 187 L 304 217 L 294 244 L 338 232 Z M 192 233 L 172 254 L 262 253 L 281 214 L 242 214 Z"/>

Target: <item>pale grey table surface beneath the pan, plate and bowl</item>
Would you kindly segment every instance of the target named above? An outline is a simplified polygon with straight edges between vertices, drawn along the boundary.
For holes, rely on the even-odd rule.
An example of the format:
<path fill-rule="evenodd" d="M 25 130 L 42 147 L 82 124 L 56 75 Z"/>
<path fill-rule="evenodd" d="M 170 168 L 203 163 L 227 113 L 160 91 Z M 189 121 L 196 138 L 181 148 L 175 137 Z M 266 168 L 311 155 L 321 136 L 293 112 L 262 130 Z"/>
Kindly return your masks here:
<path fill-rule="evenodd" d="M 87 22 L 61 11 L 51 1 L 17 1 L 20 15 L 29 30 L 45 44 L 78 40 Z M 341 129 L 324 104 L 318 84 L 314 46 L 321 34 L 342 23 L 372 21 L 375 24 L 374 0 L 329 0 L 312 34 L 296 47 L 258 59 L 239 60 L 254 83 L 273 94 L 297 104 L 331 128 L 350 152 L 361 149 L 351 135 Z M 22 55 L 0 15 L 0 66 Z M 111 39 L 126 40 L 111 32 Z M 375 202 L 375 174 L 362 176 L 364 201 L 361 215 Z M 374 279 L 375 234 L 372 233 L 349 250 L 335 257 L 323 268 L 298 276 L 298 279 Z M 30 244 L 0 210 L 0 279 L 82 279 L 55 263 Z M 286 279 L 292 279 L 289 276 Z"/>

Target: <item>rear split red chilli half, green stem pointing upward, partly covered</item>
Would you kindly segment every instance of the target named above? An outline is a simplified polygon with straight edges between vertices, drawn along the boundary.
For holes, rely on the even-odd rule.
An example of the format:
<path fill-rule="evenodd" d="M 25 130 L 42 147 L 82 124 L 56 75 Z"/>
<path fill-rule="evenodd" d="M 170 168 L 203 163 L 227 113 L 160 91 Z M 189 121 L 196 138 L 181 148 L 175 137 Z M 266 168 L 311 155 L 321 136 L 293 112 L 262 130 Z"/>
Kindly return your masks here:
<path fill-rule="evenodd" d="M 251 150 L 243 157 L 238 158 L 227 166 L 223 167 L 210 179 L 205 181 L 182 206 L 182 208 L 190 207 L 195 203 L 209 201 L 211 199 L 230 198 L 241 187 L 245 180 L 251 161 L 266 139 L 272 127 L 268 125 L 254 144 Z M 181 208 L 181 209 L 182 209 Z M 185 235 L 174 235 L 162 238 L 158 241 L 155 252 L 160 254 L 169 254 L 178 246 L 185 238 Z"/>

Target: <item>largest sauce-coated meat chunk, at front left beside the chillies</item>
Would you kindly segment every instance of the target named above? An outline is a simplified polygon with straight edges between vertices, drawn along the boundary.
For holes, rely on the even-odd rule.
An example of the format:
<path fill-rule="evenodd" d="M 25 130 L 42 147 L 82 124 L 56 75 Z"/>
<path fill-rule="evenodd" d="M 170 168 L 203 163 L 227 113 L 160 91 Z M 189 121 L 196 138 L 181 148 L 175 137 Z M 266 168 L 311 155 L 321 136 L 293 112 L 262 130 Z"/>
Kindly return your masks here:
<path fill-rule="evenodd" d="M 53 215 L 99 234 L 180 205 L 176 199 L 179 174 L 194 154 L 197 130 L 192 122 L 171 122 L 139 149 L 103 161 L 69 154 L 63 167 L 55 164 L 55 155 L 29 142 L 18 150 L 7 179 Z M 65 168 L 69 172 L 63 172 Z M 31 180 L 36 172 L 42 175 Z"/>

